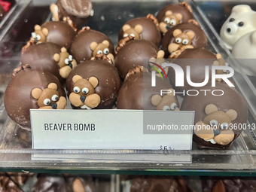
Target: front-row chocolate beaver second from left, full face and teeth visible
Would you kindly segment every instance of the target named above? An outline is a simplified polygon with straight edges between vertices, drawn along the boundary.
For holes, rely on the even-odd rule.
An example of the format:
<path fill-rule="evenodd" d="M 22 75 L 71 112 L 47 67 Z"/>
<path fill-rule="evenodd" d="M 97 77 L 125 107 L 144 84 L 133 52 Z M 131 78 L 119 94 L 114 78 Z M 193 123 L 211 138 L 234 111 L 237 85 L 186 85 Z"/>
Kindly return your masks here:
<path fill-rule="evenodd" d="M 80 82 L 74 80 L 75 75 L 77 75 L 77 77 L 81 77 Z M 96 80 L 94 79 L 95 81 L 98 81 L 93 88 L 90 85 L 93 84 L 91 83 L 92 81 L 90 81 L 90 78 L 92 77 L 96 78 Z M 75 87 L 79 87 L 80 92 L 77 91 L 78 89 L 75 89 L 74 81 L 78 83 L 78 85 L 75 85 Z M 88 81 L 90 81 L 90 84 L 88 84 Z M 84 84 L 86 84 L 86 86 L 84 86 Z M 87 99 L 89 99 L 89 93 L 85 94 L 83 92 L 84 87 L 89 88 L 90 94 L 93 93 L 100 97 L 99 105 L 94 108 L 113 108 L 117 99 L 117 93 L 120 89 L 120 78 L 117 73 L 117 69 L 115 69 L 113 65 L 105 60 L 89 60 L 86 62 L 81 62 L 78 66 L 76 66 L 66 79 L 67 94 L 72 103 L 72 108 L 79 109 L 86 107 L 85 103 L 87 103 Z M 77 93 L 77 95 L 75 95 L 75 93 Z M 77 102 L 79 106 L 76 107 L 75 103 Z"/>

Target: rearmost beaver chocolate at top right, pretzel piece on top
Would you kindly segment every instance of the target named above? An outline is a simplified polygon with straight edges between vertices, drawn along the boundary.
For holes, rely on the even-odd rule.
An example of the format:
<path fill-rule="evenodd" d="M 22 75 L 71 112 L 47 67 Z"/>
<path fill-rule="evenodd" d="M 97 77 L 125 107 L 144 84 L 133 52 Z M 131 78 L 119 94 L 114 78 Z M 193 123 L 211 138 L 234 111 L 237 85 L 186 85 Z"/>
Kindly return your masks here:
<path fill-rule="evenodd" d="M 167 5 L 157 14 L 159 29 L 162 33 L 166 33 L 179 23 L 187 23 L 188 20 L 192 19 L 192 8 L 186 2 L 181 2 L 179 5 Z"/>

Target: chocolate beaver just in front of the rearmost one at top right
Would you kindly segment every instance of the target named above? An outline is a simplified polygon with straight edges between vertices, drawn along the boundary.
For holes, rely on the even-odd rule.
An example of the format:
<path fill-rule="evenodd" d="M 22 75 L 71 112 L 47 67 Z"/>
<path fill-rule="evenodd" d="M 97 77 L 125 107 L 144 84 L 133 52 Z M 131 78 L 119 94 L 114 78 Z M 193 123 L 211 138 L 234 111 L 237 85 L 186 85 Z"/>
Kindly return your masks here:
<path fill-rule="evenodd" d="M 200 26 L 181 23 L 166 32 L 162 39 L 162 48 L 167 57 L 181 45 L 187 48 L 206 48 L 207 42 L 206 34 Z"/>

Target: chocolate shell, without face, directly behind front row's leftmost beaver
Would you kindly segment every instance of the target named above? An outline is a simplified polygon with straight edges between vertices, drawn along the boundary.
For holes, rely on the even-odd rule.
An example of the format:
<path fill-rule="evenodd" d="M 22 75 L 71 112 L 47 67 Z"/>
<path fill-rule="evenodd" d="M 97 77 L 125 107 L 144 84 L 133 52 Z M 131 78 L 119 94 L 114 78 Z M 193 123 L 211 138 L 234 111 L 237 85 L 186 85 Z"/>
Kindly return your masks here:
<path fill-rule="evenodd" d="M 61 47 L 57 44 L 44 42 L 41 44 L 32 44 L 23 54 L 20 62 L 23 65 L 28 64 L 33 70 L 42 70 L 55 75 L 61 83 L 64 79 L 59 75 L 59 64 L 53 59 L 55 53 L 60 53 Z"/>

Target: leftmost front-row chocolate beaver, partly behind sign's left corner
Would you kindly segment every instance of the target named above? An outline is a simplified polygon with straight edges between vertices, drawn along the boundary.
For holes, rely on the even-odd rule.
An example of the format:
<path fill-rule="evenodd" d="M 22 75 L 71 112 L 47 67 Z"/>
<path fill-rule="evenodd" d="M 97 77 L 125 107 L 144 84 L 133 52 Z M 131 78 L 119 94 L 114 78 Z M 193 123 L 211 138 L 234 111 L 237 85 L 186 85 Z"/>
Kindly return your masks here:
<path fill-rule="evenodd" d="M 30 108 L 64 109 L 66 93 L 49 72 L 19 66 L 5 90 L 5 110 L 21 127 L 30 129 Z"/>

